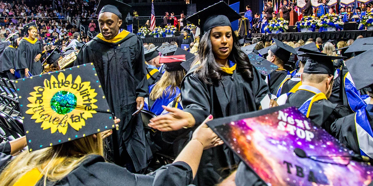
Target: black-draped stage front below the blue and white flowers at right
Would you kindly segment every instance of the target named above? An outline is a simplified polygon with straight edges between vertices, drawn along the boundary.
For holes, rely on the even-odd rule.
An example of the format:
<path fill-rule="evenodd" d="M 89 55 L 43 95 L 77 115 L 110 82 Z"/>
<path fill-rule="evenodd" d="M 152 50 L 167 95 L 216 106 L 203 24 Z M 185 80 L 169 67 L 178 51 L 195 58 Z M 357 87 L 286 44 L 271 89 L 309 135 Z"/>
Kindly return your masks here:
<path fill-rule="evenodd" d="M 363 30 L 363 31 L 332 31 L 332 32 L 292 32 L 292 33 L 262 33 L 253 34 L 253 38 L 261 38 L 264 35 L 265 41 L 270 41 L 272 38 L 278 39 L 280 41 L 286 39 L 289 41 L 298 41 L 303 39 L 306 41 L 309 38 L 322 38 L 323 41 L 329 39 L 356 39 L 357 36 L 362 35 L 364 38 L 372 37 L 373 30 Z"/>

